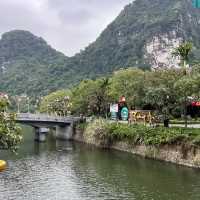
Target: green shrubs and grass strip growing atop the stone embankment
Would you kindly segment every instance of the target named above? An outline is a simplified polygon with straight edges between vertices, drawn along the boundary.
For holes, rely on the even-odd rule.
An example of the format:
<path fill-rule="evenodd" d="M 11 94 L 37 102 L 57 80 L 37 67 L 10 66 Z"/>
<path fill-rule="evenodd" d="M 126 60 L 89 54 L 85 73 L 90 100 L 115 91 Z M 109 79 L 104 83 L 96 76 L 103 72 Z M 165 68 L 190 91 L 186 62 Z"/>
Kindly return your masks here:
<path fill-rule="evenodd" d="M 96 119 L 82 125 L 88 143 L 109 146 L 114 142 L 127 141 L 135 145 L 187 144 L 200 145 L 200 129 L 147 127 L 144 125 L 128 125 L 111 123 L 104 119 Z"/>

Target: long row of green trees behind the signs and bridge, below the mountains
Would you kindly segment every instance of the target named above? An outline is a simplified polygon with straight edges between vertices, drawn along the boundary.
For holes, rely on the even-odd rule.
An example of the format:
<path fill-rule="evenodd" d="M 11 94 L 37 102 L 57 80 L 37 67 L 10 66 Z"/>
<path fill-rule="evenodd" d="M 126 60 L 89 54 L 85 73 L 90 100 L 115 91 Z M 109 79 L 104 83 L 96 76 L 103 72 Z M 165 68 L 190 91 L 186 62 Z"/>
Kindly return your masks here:
<path fill-rule="evenodd" d="M 184 76 L 182 69 L 158 69 L 142 71 L 128 68 L 115 71 L 109 78 L 84 80 L 71 91 L 61 90 L 43 98 L 41 112 L 63 114 L 64 97 L 69 96 L 68 111 L 85 116 L 106 117 L 109 105 L 117 103 L 125 95 L 130 109 L 152 109 L 164 118 L 180 117 L 183 104 L 200 99 L 200 72 L 196 65 L 190 75 Z M 185 96 L 187 99 L 185 99 Z"/>

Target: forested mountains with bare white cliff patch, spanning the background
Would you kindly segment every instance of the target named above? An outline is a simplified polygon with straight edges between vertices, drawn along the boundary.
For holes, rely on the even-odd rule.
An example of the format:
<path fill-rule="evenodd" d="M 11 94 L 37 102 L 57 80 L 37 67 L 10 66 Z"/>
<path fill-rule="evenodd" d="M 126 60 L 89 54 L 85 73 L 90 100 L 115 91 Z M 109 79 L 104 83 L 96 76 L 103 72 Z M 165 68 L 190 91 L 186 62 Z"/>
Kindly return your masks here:
<path fill-rule="evenodd" d="M 198 61 L 199 33 L 200 10 L 191 0 L 136 0 L 70 58 L 30 32 L 11 31 L 0 40 L 0 91 L 44 95 L 119 68 L 176 66 L 171 52 L 185 40 L 193 42 Z"/>

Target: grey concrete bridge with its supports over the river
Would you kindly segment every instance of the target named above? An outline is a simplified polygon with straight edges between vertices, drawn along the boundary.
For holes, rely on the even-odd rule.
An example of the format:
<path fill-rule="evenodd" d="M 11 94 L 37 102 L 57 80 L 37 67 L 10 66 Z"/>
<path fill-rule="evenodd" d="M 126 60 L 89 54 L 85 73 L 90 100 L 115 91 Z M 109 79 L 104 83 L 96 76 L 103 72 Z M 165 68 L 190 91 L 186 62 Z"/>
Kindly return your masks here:
<path fill-rule="evenodd" d="M 81 117 L 60 117 L 47 114 L 17 114 L 18 123 L 27 124 L 35 129 L 35 139 L 39 142 L 46 140 L 50 128 L 55 128 L 56 138 L 63 140 L 72 139 L 74 125 L 82 120 Z"/>

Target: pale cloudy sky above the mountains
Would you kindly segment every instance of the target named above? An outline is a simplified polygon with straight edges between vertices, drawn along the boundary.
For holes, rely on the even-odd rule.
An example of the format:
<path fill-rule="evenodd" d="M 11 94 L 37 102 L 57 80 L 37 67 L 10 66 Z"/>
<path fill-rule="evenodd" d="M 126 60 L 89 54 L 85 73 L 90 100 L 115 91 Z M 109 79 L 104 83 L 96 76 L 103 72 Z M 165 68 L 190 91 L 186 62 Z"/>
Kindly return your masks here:
<path fill-rule="evenodd" d="M 72 56 L 95 41 L 133 0 L 0 0 L 0 35 L 28 30 Z"/>

